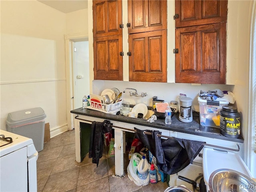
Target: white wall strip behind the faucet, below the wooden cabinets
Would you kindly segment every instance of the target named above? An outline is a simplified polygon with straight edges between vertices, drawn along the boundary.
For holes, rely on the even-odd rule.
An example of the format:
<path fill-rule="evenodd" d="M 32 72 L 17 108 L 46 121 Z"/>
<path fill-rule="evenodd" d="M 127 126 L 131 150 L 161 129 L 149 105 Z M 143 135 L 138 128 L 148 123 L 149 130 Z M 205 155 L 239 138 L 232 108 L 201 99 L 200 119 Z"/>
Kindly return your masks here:
<path fill-rule="evenodd" d="M 187 97 L 193 99 L 192 110 L 199 111 L 199 104 L 197 100 L 198 93 L 200 90 L 227 90 L 233 91 L 234 86 L 231 85 L 217 85 L 217 84 L 202 84 L 200 86 L 194 86 L 192 84 L 185 83 L 152 83 L 152 82 L 125 82 L 125 81 L 93 81 L 94 94 L 101 94 L 104 89 L 118 88 L 120 92 L 123 92 L 124 88 L 134 88 L 138 94 L 146 92 L 148 95 L 145 97 L 130 96 L 129 91 L 126 90 L 122 93 L 122 99 L 130 102 L 130 104 L 144 103 L 147 106 L 152 106 L 152 97 L 158 96 L 158 99 L 164 100 L 170 103 L 171 100 L 178 101 L 179 94 L 186 94 Z"/>

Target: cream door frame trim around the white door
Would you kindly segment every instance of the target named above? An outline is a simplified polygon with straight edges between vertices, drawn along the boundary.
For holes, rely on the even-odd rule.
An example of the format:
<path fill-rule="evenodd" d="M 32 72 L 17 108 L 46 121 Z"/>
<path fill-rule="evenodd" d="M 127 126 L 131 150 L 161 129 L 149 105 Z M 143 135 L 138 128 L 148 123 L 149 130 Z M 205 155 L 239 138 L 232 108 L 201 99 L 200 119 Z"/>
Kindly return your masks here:
<path fill-rule="evenodd" d="M 88 34 L 65 35 L 66 48 L 66 96 L 67 96 L 67 124 L 68 130 L 74 128 L 74 114 L 70 113 L 74 109 L 74 86 L 73 86 L 73 52 L 72 46 L 74 42 L 89 41 Z M 91 87 L 91 83 L 90 83 Z"/>

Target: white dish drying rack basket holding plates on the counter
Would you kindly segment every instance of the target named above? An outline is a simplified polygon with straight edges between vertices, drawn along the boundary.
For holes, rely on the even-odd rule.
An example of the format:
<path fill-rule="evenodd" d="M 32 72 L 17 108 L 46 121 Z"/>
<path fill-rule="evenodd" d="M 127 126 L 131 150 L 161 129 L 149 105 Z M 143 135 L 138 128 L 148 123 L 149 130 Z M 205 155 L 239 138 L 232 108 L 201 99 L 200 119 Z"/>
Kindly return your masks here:
<path fill-rule="evenodd" d="M 98 103 L 95 101 L 91 101 L 91 99 L 88 99 L 90 106 L 87 106 L 88 109 L 101 111 L 104 113 L 114 114 L 118 112 L 121 108 L 122 100 L 113 104 L 103 104 Z"/>

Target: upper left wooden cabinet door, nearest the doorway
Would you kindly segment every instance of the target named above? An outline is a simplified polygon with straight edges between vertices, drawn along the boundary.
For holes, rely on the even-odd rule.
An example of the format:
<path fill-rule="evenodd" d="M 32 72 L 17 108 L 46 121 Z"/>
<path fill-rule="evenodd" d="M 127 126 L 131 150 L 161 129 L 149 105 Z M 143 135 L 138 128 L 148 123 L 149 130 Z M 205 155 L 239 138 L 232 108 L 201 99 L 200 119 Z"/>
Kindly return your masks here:
<path fill-rule="evenodd" d="M 94 0 L 92 9 L 94 37 L 122 34 L 122 1 Z"/>

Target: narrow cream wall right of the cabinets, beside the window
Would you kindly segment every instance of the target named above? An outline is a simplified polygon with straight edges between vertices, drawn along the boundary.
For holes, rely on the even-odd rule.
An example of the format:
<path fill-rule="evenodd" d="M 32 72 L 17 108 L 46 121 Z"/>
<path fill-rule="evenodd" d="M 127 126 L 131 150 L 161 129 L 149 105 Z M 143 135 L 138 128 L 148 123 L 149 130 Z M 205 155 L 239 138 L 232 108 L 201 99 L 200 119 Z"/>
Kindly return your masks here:
<path fill-rule="evenodd" d="M 253 1 L 228 1 L 228 46 L 227 62 L 230 64 L 227 79 L 235 84 L 234 94 L 237 98 L 238 111 L 241 114 L 242 135 L 244 137 L 244 160 L 250 164 L 248 142 L 249 126 L 249 75 L 250 75 L 250 32 Z M 235 67 L 232 67 L 235 66 Z M 255 99 L 255 98 L 254 98 Z M 250 156 L 250 155 L 249 155 Z M 254 162 L 252 162 L 254 163 Z M 254 170 L 256 172 L 256 170 Z"/>

